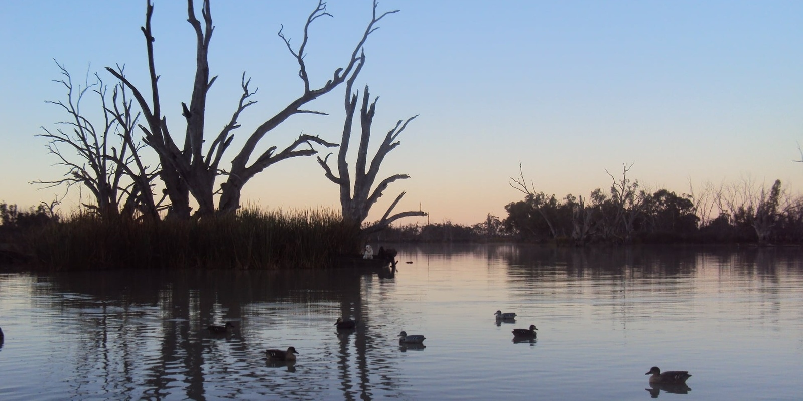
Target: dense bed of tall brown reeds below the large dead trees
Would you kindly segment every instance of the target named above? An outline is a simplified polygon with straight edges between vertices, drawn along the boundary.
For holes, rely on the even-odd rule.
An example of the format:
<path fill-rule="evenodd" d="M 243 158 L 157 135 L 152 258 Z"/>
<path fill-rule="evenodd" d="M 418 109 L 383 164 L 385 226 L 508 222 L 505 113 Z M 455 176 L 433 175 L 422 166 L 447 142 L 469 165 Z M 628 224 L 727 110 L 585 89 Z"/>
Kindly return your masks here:
<path fill-rule="evenodd" d="M 262 211 L 199 221 L 101 221 L 75 215 L 31 233 L 45 268 L 320 269 L 338 253 L 356 253 L 359 229 L 328 209 Z"/>

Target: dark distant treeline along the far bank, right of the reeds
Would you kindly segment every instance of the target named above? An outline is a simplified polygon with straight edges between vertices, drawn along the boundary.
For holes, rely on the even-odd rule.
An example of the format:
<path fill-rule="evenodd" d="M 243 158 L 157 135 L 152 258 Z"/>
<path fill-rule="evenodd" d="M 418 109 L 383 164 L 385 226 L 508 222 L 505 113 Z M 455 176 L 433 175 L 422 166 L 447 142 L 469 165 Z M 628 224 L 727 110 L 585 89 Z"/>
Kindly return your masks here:
<path fill-rule="evenodd" d="M 709 185 L 702 195 L 647 192 L 622 180 L 609 194 L 558 199 L 526 191 L 507 204 L 507 217 L 491 214 L 475 225 L 449 221 L 393 226 L 373 241 L 532 241 L 564 245 L 675 243 L 803 243 L 803 208 L 777 180 L 772 188 L 749 183 Z"/>

